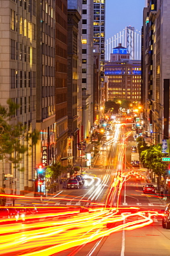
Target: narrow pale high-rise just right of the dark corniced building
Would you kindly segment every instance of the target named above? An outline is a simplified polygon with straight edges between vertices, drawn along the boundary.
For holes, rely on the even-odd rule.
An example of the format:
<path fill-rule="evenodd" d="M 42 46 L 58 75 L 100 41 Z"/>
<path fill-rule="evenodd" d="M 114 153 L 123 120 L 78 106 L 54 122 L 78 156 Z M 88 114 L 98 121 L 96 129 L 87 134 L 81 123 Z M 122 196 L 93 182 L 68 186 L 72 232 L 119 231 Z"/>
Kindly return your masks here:
<path fill-rule="evenodd" d="M 82 10 L 82 116 L 83 138 L 94 124 L 94 3 L 83 0 Z"/>

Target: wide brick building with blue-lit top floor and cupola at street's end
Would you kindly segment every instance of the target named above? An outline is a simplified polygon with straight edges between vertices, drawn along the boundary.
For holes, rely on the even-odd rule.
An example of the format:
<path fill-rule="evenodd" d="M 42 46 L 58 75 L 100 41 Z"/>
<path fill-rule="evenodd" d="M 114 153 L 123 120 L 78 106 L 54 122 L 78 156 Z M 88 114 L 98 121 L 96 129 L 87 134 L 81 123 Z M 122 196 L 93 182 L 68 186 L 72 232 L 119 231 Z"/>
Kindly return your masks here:
<path fill-rule="evenodd" d="M 129 60 L 127 48 L 121 44 L 113 49 L 110 60 L 105 62 L 107 100 L 127 99 L 140 102 L 140 60 Z"/>

